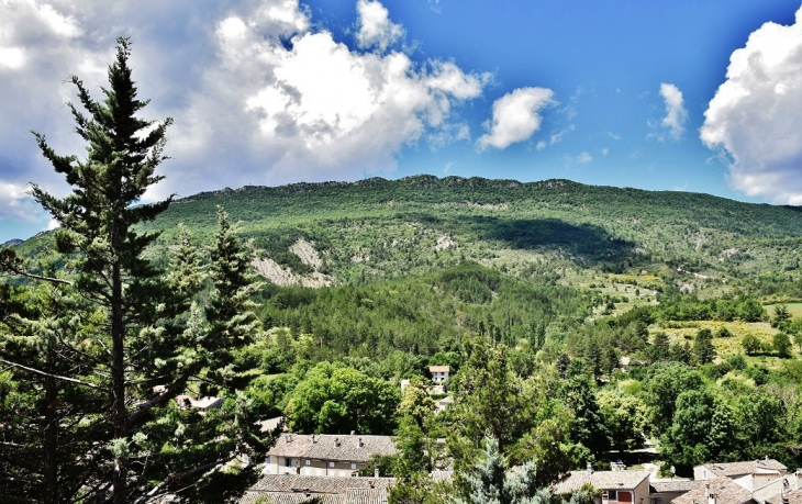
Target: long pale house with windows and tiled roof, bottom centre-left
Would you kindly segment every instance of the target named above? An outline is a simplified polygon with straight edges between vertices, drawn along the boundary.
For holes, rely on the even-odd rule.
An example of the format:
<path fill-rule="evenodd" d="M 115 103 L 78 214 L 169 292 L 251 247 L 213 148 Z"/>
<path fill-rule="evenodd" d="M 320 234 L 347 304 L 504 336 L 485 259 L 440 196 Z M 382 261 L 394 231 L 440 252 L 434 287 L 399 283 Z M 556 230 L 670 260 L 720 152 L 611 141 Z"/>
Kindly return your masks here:
<path fill-rule="evenodd" d="M 264 473 L 350 477 L 374 455 L 394 452 L 390 436 L 285 433 L 268 451 Z"/>

